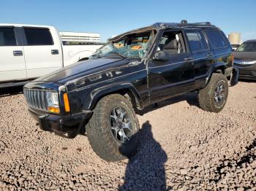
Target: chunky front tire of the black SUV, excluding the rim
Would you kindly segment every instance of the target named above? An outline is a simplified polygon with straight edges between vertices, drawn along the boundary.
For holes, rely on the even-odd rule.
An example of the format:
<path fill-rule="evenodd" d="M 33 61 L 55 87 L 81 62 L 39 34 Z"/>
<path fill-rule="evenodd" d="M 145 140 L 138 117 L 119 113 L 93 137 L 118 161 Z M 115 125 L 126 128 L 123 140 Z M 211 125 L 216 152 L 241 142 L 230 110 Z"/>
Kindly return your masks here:
<path fill-rule="evenodd" d="M 131 118 L 132 136 L 125 144 L 118 142 L 110 128 L 110 111 L 121 106 Z M 140 125 L 130 101 L 120 94 L 106 95 L 97 103 L 86 127 L 89 143 L 94 152 L 106 161 L 124 160 L 138 149 Z"/>

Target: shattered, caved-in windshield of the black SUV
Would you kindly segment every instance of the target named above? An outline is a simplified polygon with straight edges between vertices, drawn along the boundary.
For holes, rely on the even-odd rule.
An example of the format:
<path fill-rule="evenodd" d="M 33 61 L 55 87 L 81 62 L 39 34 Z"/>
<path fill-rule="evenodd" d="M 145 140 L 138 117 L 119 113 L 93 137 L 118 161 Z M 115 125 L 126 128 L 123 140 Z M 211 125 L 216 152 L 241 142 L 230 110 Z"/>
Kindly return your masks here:
<path fill-rule="evenodd" d="M 150 47 L 151 31 L 143 34 L 129 34 L 118 42 L 109 42 L 91 55 L 90 59 L 120 56 L 123 58 L 143 58 Z"/>

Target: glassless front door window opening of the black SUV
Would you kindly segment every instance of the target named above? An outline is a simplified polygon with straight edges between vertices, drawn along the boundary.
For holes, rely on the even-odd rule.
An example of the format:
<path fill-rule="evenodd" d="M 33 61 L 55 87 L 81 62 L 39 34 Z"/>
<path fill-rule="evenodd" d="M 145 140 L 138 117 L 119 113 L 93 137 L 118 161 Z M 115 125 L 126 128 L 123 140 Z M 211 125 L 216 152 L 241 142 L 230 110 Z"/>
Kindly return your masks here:
<path fill-rule="evenodd" d="M 157 51 L 163 50 L 170 55 L 186 52 L 181 31 L 166 31 L 162 34 Z"/>

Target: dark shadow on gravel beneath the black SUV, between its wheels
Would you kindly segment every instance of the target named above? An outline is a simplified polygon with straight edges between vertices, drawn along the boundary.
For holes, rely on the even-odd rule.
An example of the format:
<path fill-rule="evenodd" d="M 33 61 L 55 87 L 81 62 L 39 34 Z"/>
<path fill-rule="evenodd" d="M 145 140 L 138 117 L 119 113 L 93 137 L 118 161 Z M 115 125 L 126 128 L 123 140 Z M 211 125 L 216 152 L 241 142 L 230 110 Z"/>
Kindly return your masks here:
<path fill-rule="evenodd" d="M 176 97 L 167 99 L 165 101 L 160 101 L 157 104 L 147 106 L 145 109 L 143 109 L 143 111 L 136 110 L 136 114 L 143 115 L 148 112 L 152 112 L 155 109 L 159 109 L 164 106 L 168 106 L 170 104 L 176 104 L 181 101 L 187 101 L 187 104 L 189 104 L 189 106 L 197 106 L 198 108 L 200 108 L 199 103 L 198 103 L 198 94 L 197 93 L 184 93 L 182 95 L 178 95 Z"/>

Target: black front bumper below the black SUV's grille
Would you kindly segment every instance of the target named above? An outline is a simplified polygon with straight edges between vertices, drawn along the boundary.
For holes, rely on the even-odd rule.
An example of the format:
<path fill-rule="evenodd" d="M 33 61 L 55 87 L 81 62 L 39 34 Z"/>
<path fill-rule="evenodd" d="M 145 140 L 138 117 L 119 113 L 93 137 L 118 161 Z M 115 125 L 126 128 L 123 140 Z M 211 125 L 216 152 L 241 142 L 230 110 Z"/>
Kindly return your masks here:
<path fill-rule="evenodd" d="M 91 111 L 84 111 L 78 114 L 59 116 L 55 114 L 44 114 L 34 109 L 29 109 L 29 113 L 39 122 L 39 128 L 54 132 L 66 138 L 75 138 L 83 133 L 86 123 L 91 118 Z"/>

